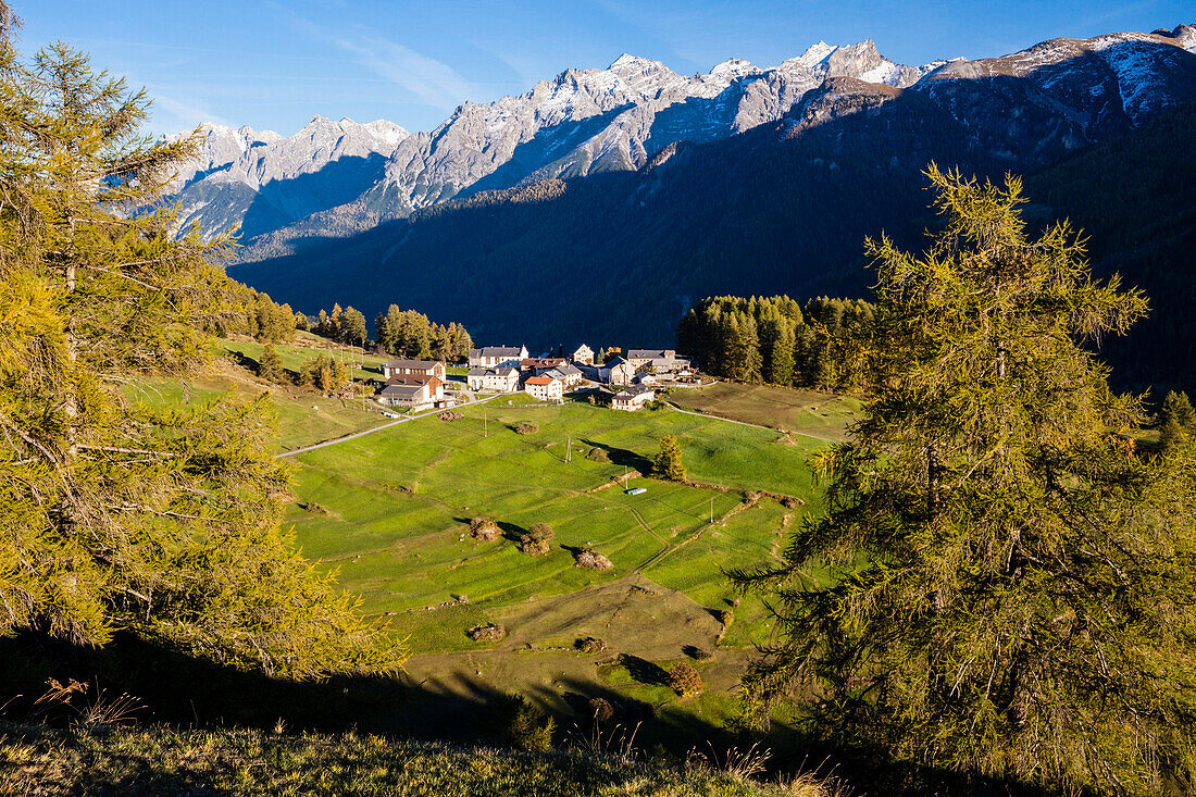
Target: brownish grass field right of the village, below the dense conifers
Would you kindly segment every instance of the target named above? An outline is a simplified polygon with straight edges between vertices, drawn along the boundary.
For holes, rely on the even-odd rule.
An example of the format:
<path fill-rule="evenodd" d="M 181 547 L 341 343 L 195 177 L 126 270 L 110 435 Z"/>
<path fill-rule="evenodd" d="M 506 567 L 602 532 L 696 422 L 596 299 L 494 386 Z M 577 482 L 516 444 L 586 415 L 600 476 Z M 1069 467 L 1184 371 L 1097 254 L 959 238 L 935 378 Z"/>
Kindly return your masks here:
<path fill-rule="evenodd" d="M 846 437 L 848 424 L 860 412 L 858 398 L 733 382 L 673 390 L 669 401 L 683 409 L 832 440 Z"/>

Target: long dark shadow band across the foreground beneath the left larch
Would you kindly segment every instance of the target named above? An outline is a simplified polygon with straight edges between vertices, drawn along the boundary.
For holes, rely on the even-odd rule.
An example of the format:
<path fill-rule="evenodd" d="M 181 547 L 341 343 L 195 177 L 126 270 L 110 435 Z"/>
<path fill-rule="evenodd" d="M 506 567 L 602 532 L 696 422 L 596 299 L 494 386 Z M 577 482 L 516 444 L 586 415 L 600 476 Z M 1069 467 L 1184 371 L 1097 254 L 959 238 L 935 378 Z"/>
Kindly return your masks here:
<path fill-rule="evenodd" d="M 660 686 L 666 677 L 663 668 L 636 656 L 622 656 L 621 665 L 643 685 Z M 405 675 L 292 682 L 221 667 L 128 634 L 118 634 L 103 649 L 85 649 L 23 633 L 0 639 L 0 723 L 11 738 L 28 735 L 31 743 L 37 742 L 44 734 L 41 723 L 72 723 L 65 707 L 47 713 L 33 705 L 47 693 L 50 679 L 98 685 L 108 700 L 130 695 L 140 706 L 133 713 L 139 725 L 269 730 L 281 720 L 289 734 L 356 730 L 457 744 L 501 744 L 512 705 L 506 692 L 460 671 L 420 682 Z M 525 696 L 541 706 L 563 704 L 567 708 L 565 713 L 557 710 L 565 731 L 557 743 L 584 747 L 598 742 L 597 749 L 620 753 L 626 734 L 634 730 L 639 750 L 652 750 L 653 758 L 682 760 L 687 750 L 695 748 L 726 750 L 734 746 L 743 750 L 759 738 L 745 735 L 734 724 L 715 725 L 688 700 L 665 698 L 651 704 L 591 680 L 556 681 L 554 686 L 535 687 Z M 596 738 L 590 705 L 593 698 L 603 698 L 614 708 L 604 738 Z M 622 738 L 610 732 L 616 725 L 624 734 Z M 852 785 L 868 793 L 1052 795 L 974 773 L 895 762 L 877 749 L 844 749 L 826 740 L 804 737 L 797 728 L 780 722 L 773 723 L 763 741 L 774 750 L 770 773 L 792 773 L 808 767 L 811 761 L 823 761 L 828 768 L 850 772 Z M 177 787 L 188 785 L 185 773 L 179 780 L 177 774 L 139 768 L 124 771 L 122 777 L 127 778 L 122 784 L 129 791 L 136 786 L 138 793 L 182 793 Z"/>

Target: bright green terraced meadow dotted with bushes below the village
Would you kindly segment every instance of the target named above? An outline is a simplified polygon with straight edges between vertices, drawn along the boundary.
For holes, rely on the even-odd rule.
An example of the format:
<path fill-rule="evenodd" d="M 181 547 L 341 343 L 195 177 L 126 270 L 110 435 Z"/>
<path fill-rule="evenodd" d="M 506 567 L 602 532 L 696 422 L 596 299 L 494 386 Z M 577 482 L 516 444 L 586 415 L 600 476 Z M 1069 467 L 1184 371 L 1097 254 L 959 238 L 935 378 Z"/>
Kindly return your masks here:
<path fill-rule="evenodd" d="M 609 693 L 659 705 L 678 725 L 733 716 L 733 688 L 770 620 L 758 598 L 736 600 L 724 570 L 770 561 L 817 505 L 805 461 L 825 443 L 670 408 L 617 413 L 515 396 L 463 412 L 295 458 L 288 519 L 304 553 L 337 567 L 366 612 L 407 640 L 410 677 L 429 693 L 517 690 L 557 708 L 570 694 Z M 538 431 L 519 434 L 519 422 Z M 612 483 L 647 471 L 665 434 L 707 486 L 635 477 L 647 492 L 628 495 Z M 469 536 L 481 515 L 502 528 L 496 541 Z M 548 555 L 518 550 L 533 523 L 556 531 Z M 587 544 L 614 570 L 574 567 Z M 721 609 L 734 613 L 727 629 L 713 615 Z M 470 640 L 465 631 L 484 622 L 508 635 Z M 576 652 L 585 637 L 605 640 L 608 655 Z M 707 692 L 677 700 L 661 673 L 698 649 L 716 650 L 697 664 Z"/>

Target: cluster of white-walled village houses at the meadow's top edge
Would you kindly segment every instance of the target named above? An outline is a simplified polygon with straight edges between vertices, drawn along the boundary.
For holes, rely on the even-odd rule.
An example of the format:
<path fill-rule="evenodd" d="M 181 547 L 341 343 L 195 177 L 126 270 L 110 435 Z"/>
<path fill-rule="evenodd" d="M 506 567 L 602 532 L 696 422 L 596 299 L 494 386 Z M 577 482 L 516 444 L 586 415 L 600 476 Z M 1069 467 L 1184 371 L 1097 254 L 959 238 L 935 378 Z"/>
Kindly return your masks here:
<path fill-rule="evenodd" d="M 608 349 L 585 343 L 531 357 L 526 346 L 484 346 L 469 352 L 468 370 L 440 360 L 395 358 L 383 364 L 374 400 L 404 410 L 447 409 L 470 394 L 525 393 L 548 403 L 566 395 L 623 412 L 655 401 L 661 390 L 697 383 L 690 358 L 673 349 Z M 454 373 L 450 376 L 450 370 Z M 463 373 L 462 373 L 463 372 Z"/>

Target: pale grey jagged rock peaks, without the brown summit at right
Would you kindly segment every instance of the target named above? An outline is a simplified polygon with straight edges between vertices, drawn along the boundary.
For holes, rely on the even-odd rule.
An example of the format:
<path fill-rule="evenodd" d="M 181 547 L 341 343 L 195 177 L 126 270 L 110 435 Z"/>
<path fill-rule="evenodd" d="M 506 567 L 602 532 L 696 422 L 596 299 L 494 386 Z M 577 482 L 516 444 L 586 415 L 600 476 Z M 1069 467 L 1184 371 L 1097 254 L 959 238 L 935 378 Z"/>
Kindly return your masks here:
<path fill-rule="evenodd" d="M 181 226 L 210 237 L 239 225 L 243 242 L 282 227 L 356 231 L 463 194 L 635 170 L 670 144 L 776 121 L 828 78 L 908 86 L 945 63 L 893 63 L 871 39 L 818 42 L 774 68 L 730 59 L 691 77 L 624 54 L 605 69 L 465 103 L 427 133 L 321 116 L 292 136 L 203 126 L 200 154 L 177 181 Z"/>

